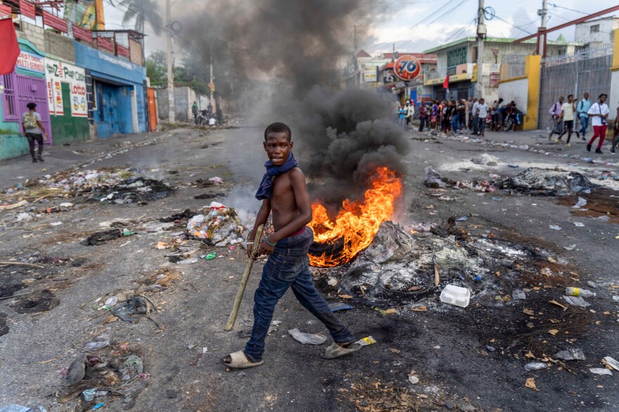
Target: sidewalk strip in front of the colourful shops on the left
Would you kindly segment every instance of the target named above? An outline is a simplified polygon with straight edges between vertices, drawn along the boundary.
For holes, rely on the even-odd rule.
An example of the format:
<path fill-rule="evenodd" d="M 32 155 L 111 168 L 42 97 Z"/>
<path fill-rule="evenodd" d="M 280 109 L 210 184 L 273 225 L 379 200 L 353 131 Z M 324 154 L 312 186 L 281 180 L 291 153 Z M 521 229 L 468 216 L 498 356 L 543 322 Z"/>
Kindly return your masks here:
<path fill-rule="evenodd" d="M 30 155 L 0 161 L 0 188 L 8 188 L 25 179 L 53 174 L 63 169 L 96 162 L 103 157 L 131 150 L 181 131 L 157 131 L 141 134 L 121 134 L 108 139 L 71 143 L 70 146 L 45 146 L 45 162 L 32 163 Z"/>

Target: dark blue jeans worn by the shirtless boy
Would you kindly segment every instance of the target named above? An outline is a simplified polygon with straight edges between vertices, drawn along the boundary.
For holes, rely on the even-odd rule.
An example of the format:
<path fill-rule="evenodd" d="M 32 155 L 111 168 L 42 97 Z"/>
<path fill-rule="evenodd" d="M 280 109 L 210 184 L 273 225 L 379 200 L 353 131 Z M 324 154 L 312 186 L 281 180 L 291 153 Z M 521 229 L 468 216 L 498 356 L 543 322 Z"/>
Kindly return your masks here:
<path fill-rule="evenodd" d="M 329 309 L 328 304 L 314 287 L 309 273 L 307 250 L 314 242 L 312 229 L 277 242 L 262 269 L 262 279 L 254 295 L 254 326 L 250 340 L 245 345 L 245 354 L 254 362 L 262 360 L 264 339 L 273 318 L 279 299 L 292 288 L 300 304 L 310 311 L 331 333 L 337 343 L 353 342 L 355 335 Z"/>

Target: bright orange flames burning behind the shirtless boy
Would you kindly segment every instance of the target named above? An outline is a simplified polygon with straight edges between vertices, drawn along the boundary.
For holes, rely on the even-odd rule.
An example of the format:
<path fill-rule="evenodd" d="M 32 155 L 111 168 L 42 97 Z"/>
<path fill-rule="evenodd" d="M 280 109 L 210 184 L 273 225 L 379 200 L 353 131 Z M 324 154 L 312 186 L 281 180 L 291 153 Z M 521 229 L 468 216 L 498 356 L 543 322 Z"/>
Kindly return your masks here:
<path fill-rule="evenodd" d="M 377 172 L 372 188 L 365 192 L 364 201 L 344 200 L 336 221 L 329 219 L 323 205 L 318 202 L 312 204 L 314 219 L 308 226 L 314 231 L 314 240 L 333 243 L 342 238 L 343 250 L 336 256 L 326 253 L 321 256 L 309 255 L 309 264 L 330 267 L 350 262 L 372 243 L 383 221 L 391 219 L 395 199 L 402 194 L 402 181 L 387 167 L 379 167 Z"/>

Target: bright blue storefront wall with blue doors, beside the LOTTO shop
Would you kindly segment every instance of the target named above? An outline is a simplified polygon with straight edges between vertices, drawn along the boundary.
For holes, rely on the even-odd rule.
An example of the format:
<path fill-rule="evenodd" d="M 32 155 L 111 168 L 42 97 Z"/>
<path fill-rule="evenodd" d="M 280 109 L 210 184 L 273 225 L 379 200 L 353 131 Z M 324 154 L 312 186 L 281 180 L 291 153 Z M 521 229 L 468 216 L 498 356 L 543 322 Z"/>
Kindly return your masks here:
<path fill-rule="evenodd" d="M 146 68 L 74 42 L 75 63 L 89 70 L 93 82 L 92 120 L 99 137 L 146 131 Z M 132 96 L 136 100 L 134 129 Z"/>

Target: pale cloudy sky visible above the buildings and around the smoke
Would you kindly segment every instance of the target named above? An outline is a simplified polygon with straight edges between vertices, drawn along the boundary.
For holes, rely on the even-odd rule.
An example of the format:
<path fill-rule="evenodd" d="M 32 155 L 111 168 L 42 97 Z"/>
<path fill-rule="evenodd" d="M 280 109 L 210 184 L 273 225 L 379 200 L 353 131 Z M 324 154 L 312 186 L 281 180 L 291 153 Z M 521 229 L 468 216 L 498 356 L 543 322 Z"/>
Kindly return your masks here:
<path fill-rule="evenodd" d="M 291 0 L 298 1 L 298 0 Z M 333 0 L 338 1 L 338 0 Z M 375 55 L 380 51 L 391 51 L 395 42 L 397 51 L 421 52 L 434 46 L 475 35 L 473 22 L 477 15 L 477 0 L 361 0 L 369 4 L 369 15 L 359 20 L 360 48 Z M 113 0 L 116 4 L 116 0 Z M 108 1 L 106 25 L 109 29 L 122 28 L 122 6 L 114 8 Z M 163 14 L 164 1 L 160 1 Z M 616 0 L 549 0 L 548 27 L 561 25 L 617 5 Z M 494 18 L 487 22 L 490 37 L 524 37 L 532 34 L 540 25 L 537 10 L 542 0 L 486 0 L 485 6 L 494 9 Z M 568 10 L 571 9 L 571 10 Z M 172 9 L 174 18 L 174 8 Z M 619 15 L 611 13 L 610 15 Z M 425 20 L 424 20 L 425 19 Z M 155 37 L 152 28 L 146 25 L 146 53 L 165 49 L 165 41 Z M 554 40 L 563 34 L 568 40 L 574 38 L 574 27 L 553 32 Z M 350 34 L 352 50 L 352 28 Z"/>

